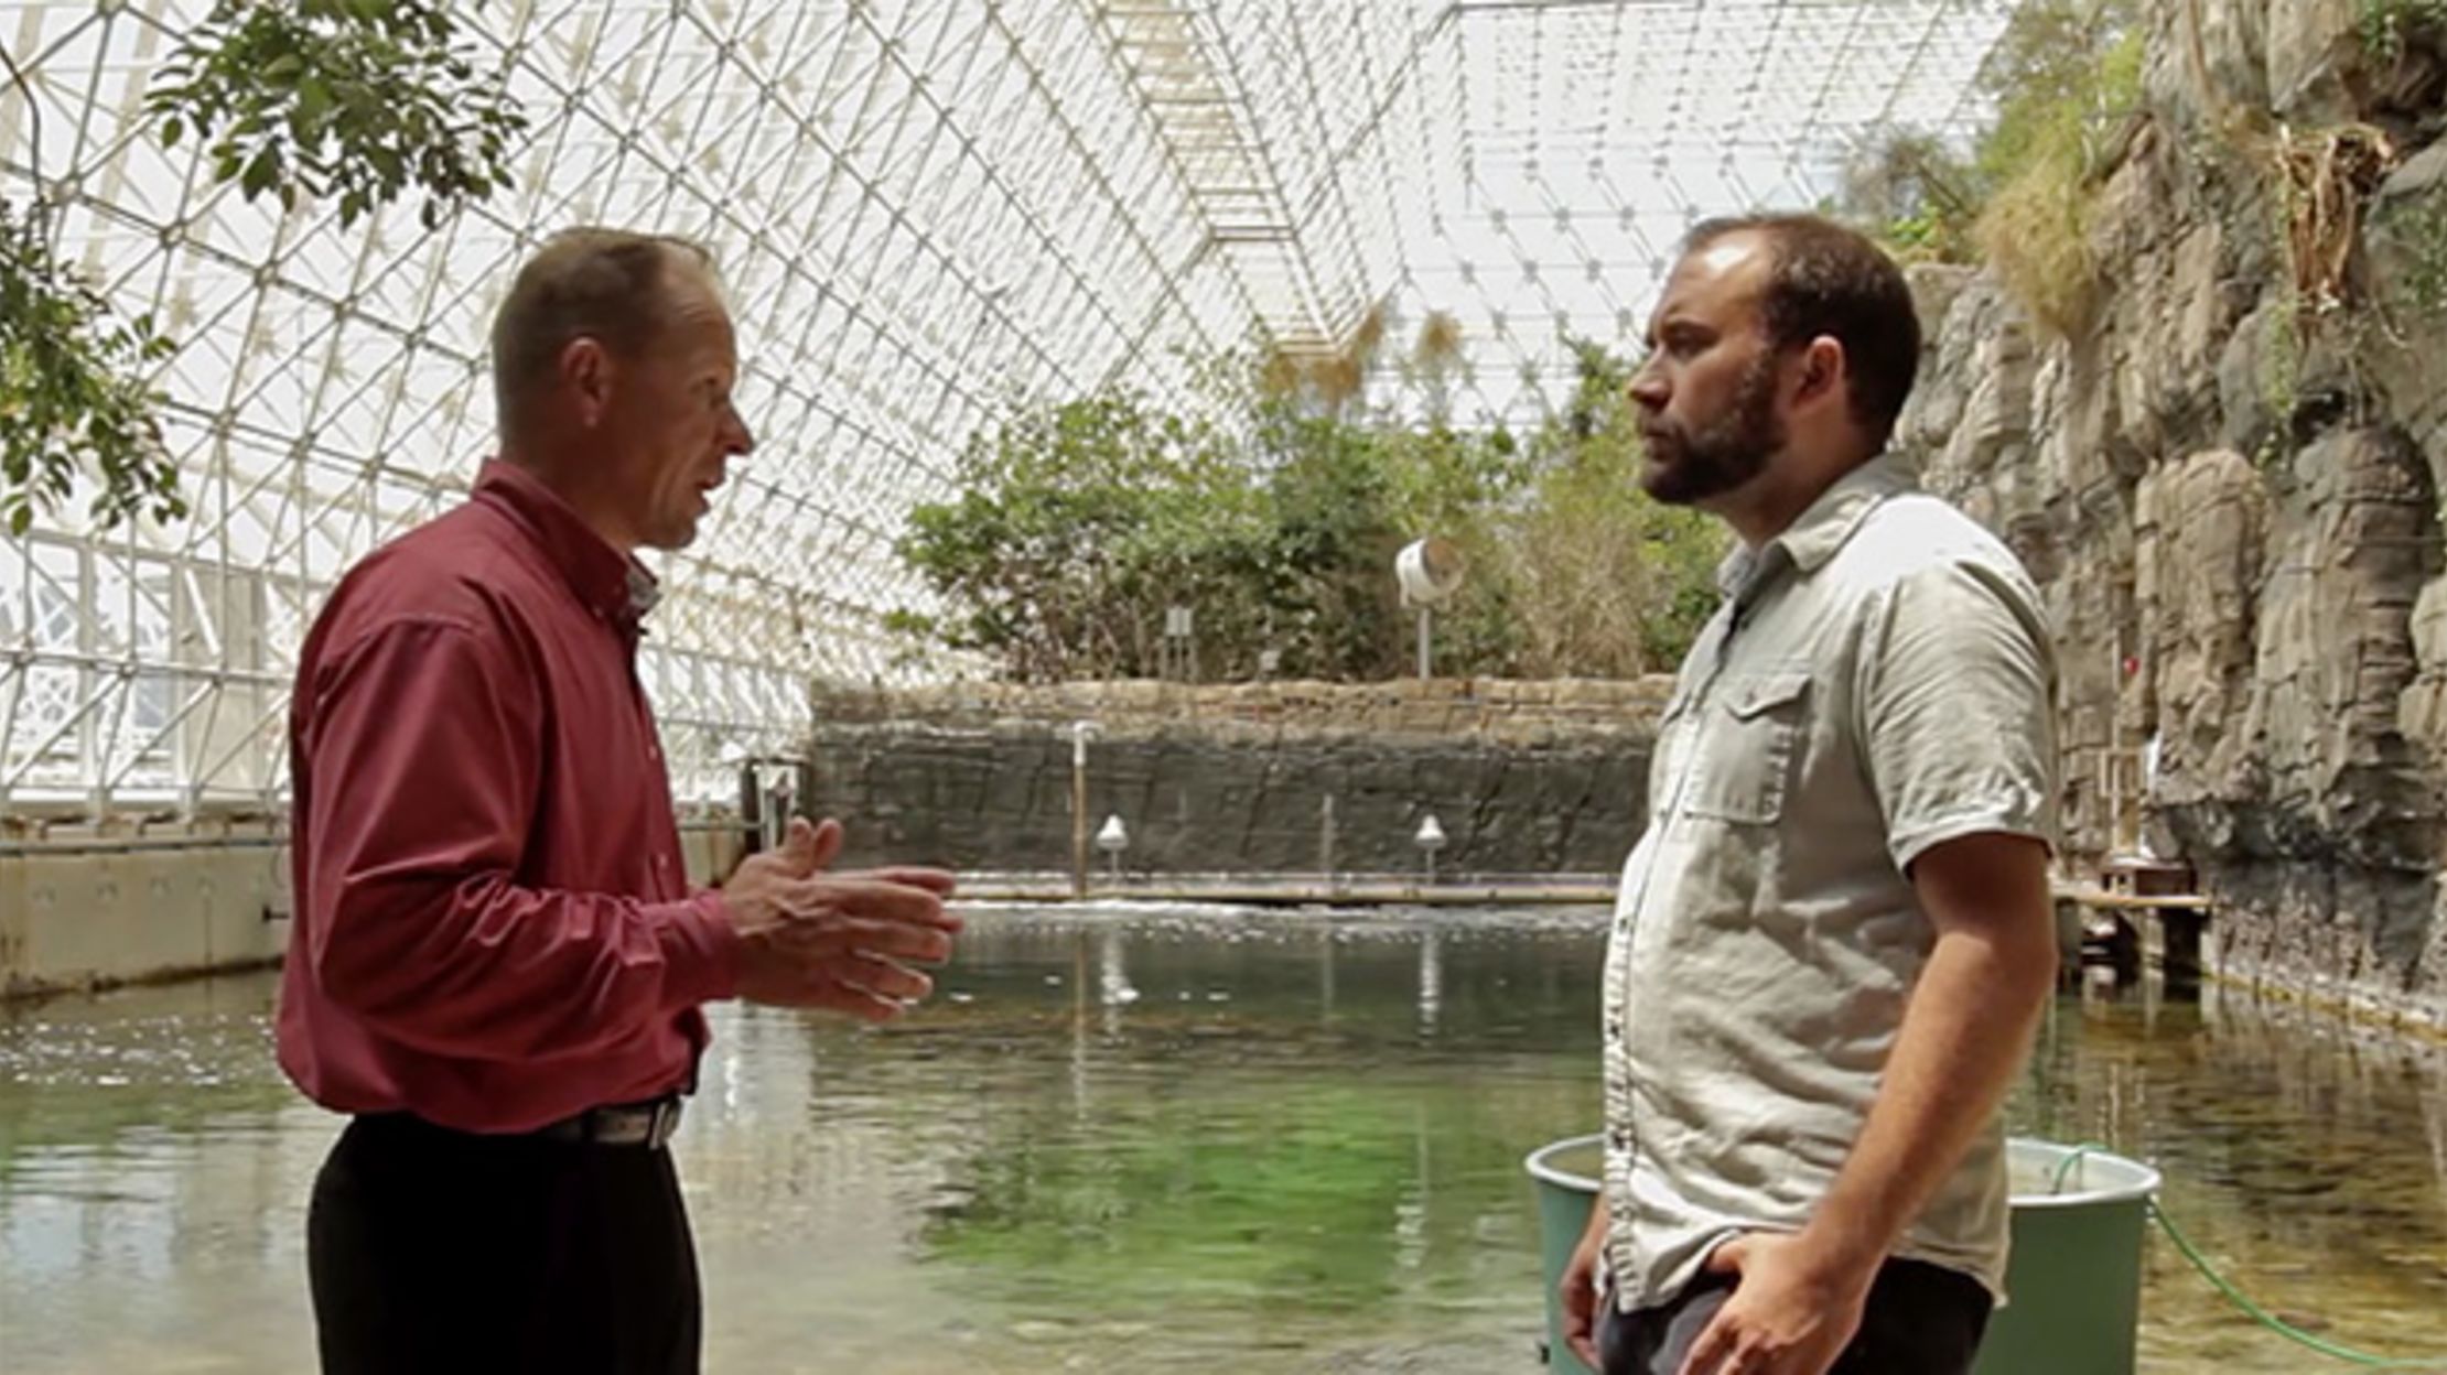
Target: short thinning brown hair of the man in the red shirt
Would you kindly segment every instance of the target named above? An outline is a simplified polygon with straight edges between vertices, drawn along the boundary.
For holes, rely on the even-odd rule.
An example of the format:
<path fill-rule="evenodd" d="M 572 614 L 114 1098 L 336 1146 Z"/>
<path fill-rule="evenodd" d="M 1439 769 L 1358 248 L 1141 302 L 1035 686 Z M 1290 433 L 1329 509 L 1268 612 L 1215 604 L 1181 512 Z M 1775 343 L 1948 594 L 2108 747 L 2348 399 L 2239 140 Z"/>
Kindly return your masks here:
<path fill-rule="evenodd" d="M 551 374 L 570 340 L 602 340 L 636 357 L 668 323 L 670 269 L 712 276 L 702 245 L 670 235 L 560 230 L 526 259 L 492 318 L 492 404 L 502 433 L 524 421 L 524 399 Z"/>

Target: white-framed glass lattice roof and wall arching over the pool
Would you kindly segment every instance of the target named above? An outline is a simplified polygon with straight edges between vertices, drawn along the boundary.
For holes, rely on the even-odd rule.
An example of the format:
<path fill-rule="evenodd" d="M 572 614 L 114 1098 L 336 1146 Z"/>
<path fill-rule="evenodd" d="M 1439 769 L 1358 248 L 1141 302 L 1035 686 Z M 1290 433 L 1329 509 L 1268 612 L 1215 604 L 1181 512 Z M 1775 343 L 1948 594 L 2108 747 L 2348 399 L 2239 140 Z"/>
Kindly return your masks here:
<path fill-rule="evenodd" d="M 881 617 L 913 502 L 1011 396 L 1461 325 L 1458 421 L 1632 347 L 1676 237 L 1806 208 L 1870 130 L 1960 132 L 1997 0 L 492 0 L 516 188 L 247 206 L 142 117 L 206 5 L 0 2 L 0 196 L 179 343 L 193 514 L 0 543 L 0 802 L 279 805 L 294 651 L 489 448 L 485 330 L 570 223 L 702 240 L 761 450 L 666 560 L 641 670 L 683 798 L 785 746 L 812 678 L 927 673 Z"/>

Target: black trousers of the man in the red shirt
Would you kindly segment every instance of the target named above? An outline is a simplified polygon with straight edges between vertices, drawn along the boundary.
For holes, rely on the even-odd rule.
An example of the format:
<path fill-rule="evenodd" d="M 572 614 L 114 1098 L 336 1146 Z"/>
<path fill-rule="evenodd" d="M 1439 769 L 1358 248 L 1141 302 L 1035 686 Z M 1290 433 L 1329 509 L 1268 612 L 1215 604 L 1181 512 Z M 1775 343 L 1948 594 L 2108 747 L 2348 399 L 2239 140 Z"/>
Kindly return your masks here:
<path fill-rule="evenodd" d="M 357 1118 L 306 1218 L 325 1375 L 695 1375 L 668 1150 Z"/>

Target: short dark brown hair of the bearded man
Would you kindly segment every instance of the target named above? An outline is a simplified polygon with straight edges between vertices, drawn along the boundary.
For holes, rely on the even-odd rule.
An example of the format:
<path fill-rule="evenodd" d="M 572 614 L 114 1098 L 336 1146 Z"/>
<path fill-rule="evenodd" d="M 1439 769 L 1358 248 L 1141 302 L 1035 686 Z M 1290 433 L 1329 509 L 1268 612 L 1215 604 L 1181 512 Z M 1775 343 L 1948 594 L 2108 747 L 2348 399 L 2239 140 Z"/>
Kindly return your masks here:
<path fill-rule="evenodd" d="M 1852 418 L 1884 448 L 1921 369 L 1921 313 L 1904 269 L 1874 242 L 1818 215 L 1703 220 L 1684 252 L 1742 232 L 1762 235 L 1774 252 L 1759 301 L 1767 340 L 1779 350 L 1818 335 L 1840 343 L 1852 377 Z"/>

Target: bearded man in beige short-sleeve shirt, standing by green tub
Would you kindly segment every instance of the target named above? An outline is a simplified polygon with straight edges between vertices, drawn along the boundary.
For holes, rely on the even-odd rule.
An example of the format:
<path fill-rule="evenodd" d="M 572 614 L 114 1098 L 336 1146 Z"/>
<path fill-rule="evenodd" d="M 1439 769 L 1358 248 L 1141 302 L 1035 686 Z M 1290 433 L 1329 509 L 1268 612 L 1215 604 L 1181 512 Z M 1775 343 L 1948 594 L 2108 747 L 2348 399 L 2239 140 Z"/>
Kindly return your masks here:
<path fill-rule="evenodd" d="M 1642 487 L 1740 543 L 1605 959 L 1605 1189 L 1564 1306 L 1608 1375 L 1962 1375 L 2002 1294 L 2055 670 L 2014 555 L 1882 458 L 1918 347 L 1860 235 L 1720 220 L 1630 384 Z"/>

